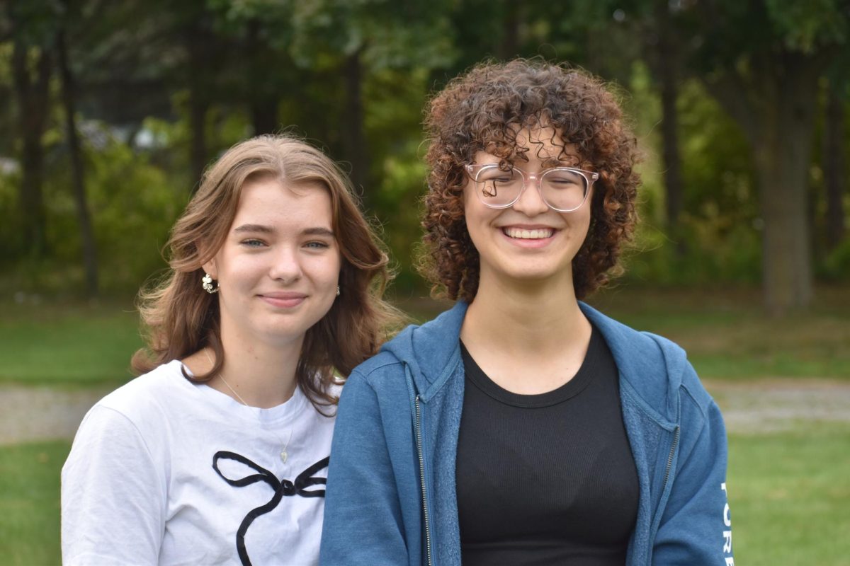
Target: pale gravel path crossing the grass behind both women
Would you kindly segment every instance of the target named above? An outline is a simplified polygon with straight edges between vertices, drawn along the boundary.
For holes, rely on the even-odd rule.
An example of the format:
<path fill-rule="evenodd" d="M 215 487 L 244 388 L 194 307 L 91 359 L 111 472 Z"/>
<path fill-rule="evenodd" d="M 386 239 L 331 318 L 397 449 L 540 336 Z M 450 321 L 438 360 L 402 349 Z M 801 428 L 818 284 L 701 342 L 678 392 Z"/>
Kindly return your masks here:
<path fill-rule="evenodd" d="M 847 382 L 777 378 L 744 384 L 711 381 L 706 388 L 723 410 L 730 432 L 772 432 L 814 421 L 850 423 Z M 88 408 L 109 390 L 0 385 L 0 446 L 72 439 Z"/>

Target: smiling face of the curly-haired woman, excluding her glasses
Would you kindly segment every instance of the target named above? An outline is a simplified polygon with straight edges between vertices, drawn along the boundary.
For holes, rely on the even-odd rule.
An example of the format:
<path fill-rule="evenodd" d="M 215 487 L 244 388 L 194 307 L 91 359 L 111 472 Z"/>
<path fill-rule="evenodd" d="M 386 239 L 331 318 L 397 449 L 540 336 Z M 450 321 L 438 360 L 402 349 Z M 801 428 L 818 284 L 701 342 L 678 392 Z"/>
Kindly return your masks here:
<path fill-rule="evenodd" d="M 558 161 L 560 139 L 551 127 L 525 129 L 518 133 L 519 147 L 528 148 L 528 162 L 517 163 L 524 171 L 538 174 L 553 165 L 580 165 L 578 156 Z M 476 164 L 499 163 L 499 158 L 479 151 Z M 591 188 L 592 190 L 592 188 Z M 479 252 L 480 285 L 488 282 L 515 283 L 563 280 L 572 289 L 572 261 L 590 227 L 588 196 L 578 210 L 557 212 L 541 199 L 534 182 L 528 182 L 512 206 L 492 209 L 475 194 L 471 179 L 463 189 L 464 216 L 469 237 Z"/>

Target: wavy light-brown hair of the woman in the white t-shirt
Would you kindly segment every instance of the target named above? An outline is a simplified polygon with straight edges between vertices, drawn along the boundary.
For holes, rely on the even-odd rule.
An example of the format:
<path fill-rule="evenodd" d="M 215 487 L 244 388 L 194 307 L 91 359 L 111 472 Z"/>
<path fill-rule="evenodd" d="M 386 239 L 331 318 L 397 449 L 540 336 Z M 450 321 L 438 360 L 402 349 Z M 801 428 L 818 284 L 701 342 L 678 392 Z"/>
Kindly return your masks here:
<path fill-rule="evenodd" d="M 399 311 L 382 300 L 391 278 L 388 257 L 361 214 L 347 177 L 319 149 L 287 135 L 260 136 L 236 144 L 210 166 L 201 187 L 172 228 L 166 245 L 166 276 L 139 292 L 139 312 L 147 346 L 133 356 L 137 373 L 190 356 L 209 346 L 215 363 L 211 379 L 224 365 L 218 295 L 201 289 L 201 266 L 224 244 L 249 180 L 274 177 L 284 185 L 319 184 L 331 195 L 332 227 L 343 261 L 342 294 L 331 310 L 307 331 L 297 364 L 298 386 L 321 411 L 336 403 L 329 393 L 334 371 L 348 376 L 377 353 L 388 333 L 399 326 Z"/>

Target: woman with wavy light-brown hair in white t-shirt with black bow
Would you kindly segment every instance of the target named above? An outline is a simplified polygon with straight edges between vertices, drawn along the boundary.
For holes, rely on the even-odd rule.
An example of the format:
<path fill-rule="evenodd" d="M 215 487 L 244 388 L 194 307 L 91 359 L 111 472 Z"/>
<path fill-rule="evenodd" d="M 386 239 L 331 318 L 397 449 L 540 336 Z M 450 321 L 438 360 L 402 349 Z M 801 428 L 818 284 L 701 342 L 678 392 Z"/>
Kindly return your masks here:
<path fill-rule="evenodd" d="M 314 564 L 337 373 L 377 352 L 387 256 L 337 166 L 256 137 L 205 174 L 142 294 L 144 375 L 83 419 L 65 564 Z"/>

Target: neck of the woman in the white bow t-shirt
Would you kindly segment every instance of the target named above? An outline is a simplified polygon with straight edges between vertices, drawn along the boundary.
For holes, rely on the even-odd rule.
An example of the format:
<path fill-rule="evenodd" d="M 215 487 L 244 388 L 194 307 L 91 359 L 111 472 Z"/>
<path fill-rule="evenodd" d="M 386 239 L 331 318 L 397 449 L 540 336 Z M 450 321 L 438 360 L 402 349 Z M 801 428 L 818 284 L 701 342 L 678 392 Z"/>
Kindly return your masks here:
<path fill-rule="evenodd" d="M 295 371 L 301 356 L 303 336 L 291 342 L 270 345 L 245 339 L 223 324 L 221 339 L 224 367 L 208 382 L 210 387 L 243 404 L 260 408 L 280 405 L 292 397 L 297 387 Z M 207 348 L 206 351 L 214 359 L 212 349 Z"/>

